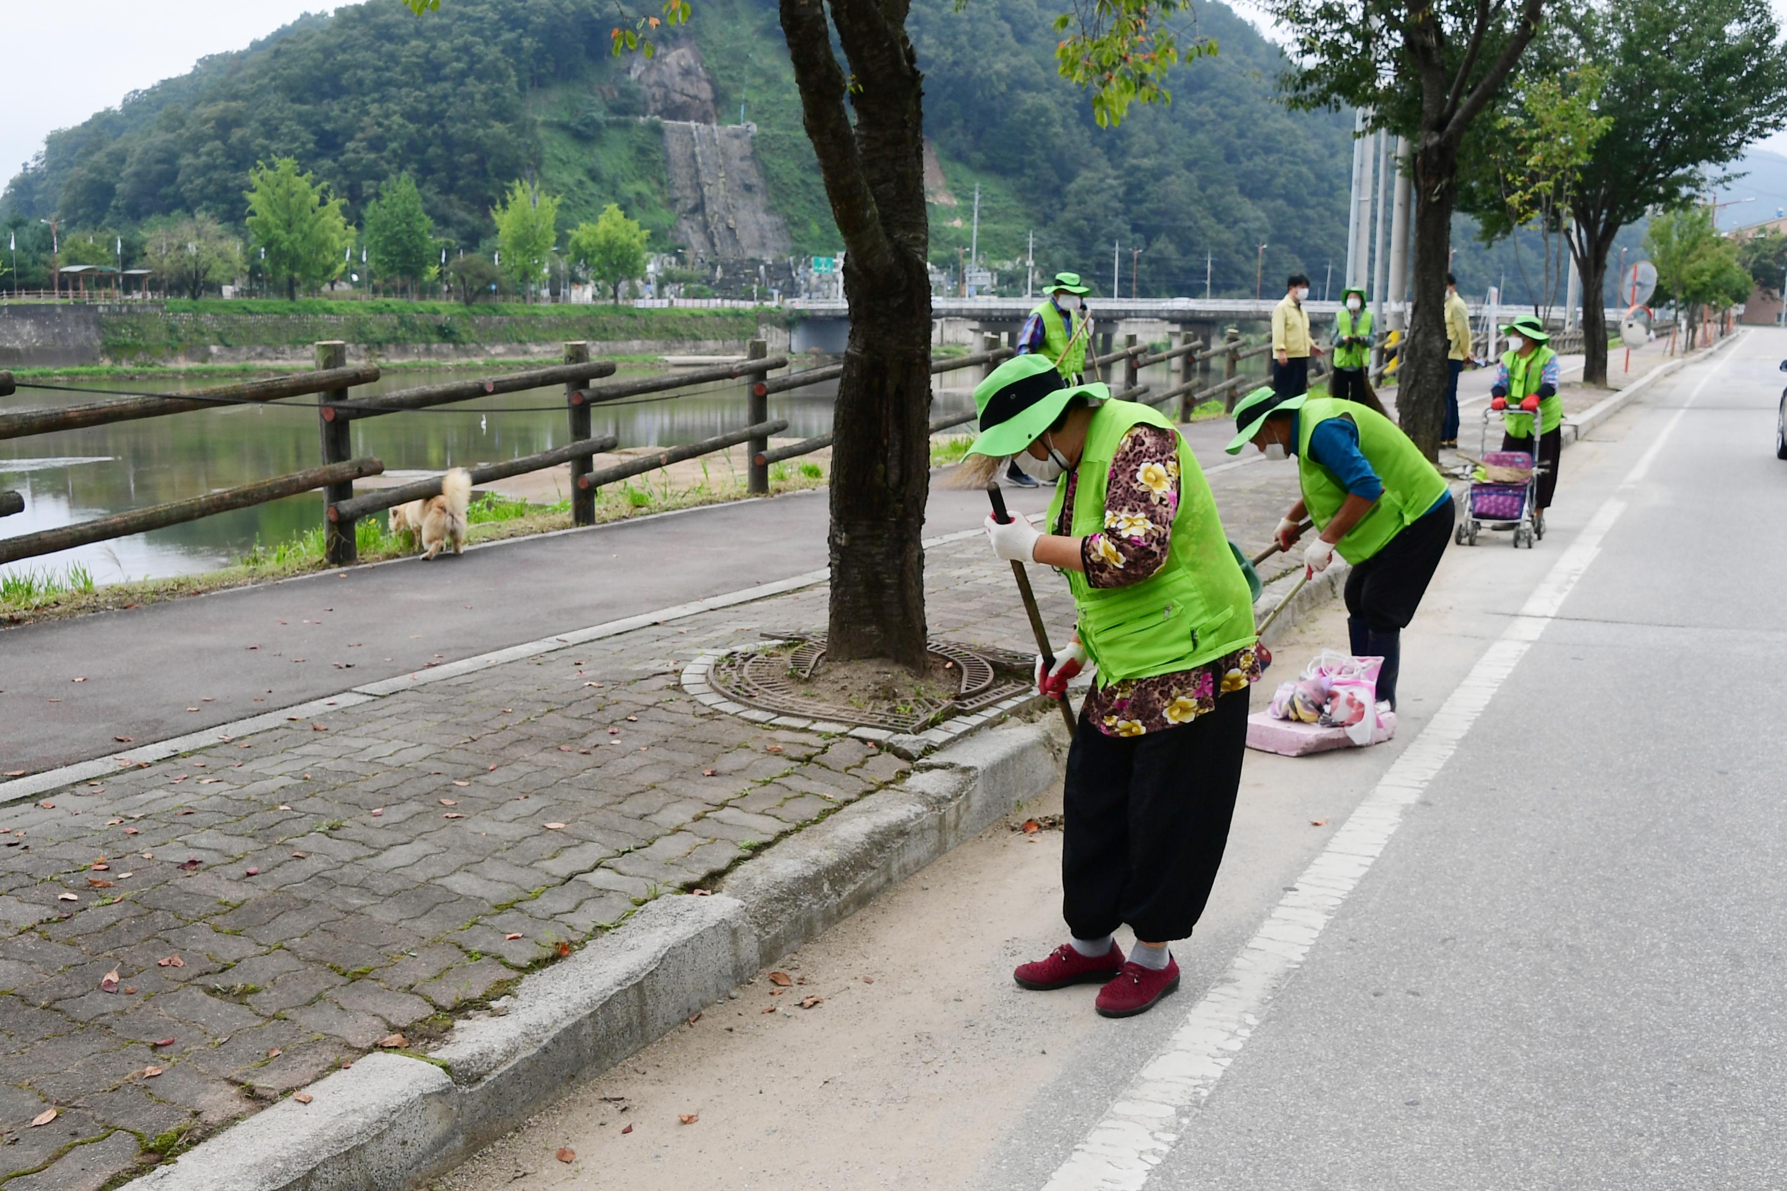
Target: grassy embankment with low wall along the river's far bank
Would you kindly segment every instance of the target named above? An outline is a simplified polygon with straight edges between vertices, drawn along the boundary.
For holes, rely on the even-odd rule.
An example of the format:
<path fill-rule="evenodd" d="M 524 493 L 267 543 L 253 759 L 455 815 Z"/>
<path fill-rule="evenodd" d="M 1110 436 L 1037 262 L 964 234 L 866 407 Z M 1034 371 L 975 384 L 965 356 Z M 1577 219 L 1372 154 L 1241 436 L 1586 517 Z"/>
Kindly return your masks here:
<path fill-rule="evenodd" d="M 222 305 L 222 304 L 204 304 Z M 559 305 L 529 314 L 182 311 L 161 302 L 0 305 L 0 368 L 79 364 L 304 364 L 318 339 L 348 343 L 350 361 L 543 359 L 566 339 L 597 355 L 743 352 L 754 337 L 788 346 L 779 316 L 754 311 L 636 311 Z"/>

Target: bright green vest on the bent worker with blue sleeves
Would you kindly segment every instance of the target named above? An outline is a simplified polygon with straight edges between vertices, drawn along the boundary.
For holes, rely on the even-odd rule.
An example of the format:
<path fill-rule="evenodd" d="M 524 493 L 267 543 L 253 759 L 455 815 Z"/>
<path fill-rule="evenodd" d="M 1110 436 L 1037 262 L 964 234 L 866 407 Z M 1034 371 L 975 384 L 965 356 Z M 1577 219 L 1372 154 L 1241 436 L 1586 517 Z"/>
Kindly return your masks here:
<path fill-rule="evenodd" d="M 1378 502 L 1335 543 L 1340 557 L 1358 566 L 1421 520 L 1449 489 L 1446 477 L 1435 471 L 1421 448 L 1376 409 L 1331 396 L 1310 398 L 1297 411 L 1297 482 L 1303 486 L 1303 507 L 1310 511 L 1317 530 L 1328 527 L 1347 498 L 1340 477 L 1310 459 L 1310 434 L 1330 418 L 1353 420 L 1358 427 L 1358 450 L 1383 480 Z"/>

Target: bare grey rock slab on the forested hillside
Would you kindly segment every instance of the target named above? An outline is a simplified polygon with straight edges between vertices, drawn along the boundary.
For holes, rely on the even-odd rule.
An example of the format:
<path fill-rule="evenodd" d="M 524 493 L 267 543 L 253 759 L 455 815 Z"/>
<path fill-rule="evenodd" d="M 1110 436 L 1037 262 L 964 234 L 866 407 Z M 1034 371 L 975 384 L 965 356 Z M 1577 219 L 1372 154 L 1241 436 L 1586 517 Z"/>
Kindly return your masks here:
<path fill-rule="evenodd" d="M 665 157 L 675 234 L 702 261 L 781 257 L 793 246 L 788 223 L 770 211 L 763 171 L 751 152 L 752 125 L 665 120 Z"/>

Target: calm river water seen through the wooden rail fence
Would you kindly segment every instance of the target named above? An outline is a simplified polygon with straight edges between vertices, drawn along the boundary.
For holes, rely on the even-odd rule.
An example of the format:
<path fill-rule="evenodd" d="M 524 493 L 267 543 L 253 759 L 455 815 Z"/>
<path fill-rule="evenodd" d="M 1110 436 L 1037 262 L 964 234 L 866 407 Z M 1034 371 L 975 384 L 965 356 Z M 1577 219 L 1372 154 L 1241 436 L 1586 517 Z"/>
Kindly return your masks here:
<path fill-rule="evenodd" d="M 1258 361 L 1247 361 L 1258 364 Z M 468 375 L 495 375 L 500 366 L 465 370 L 393 371 L 377 384 L 354 389 L 370 396 Z M 972 379 L 979 370 L 944 373 L 933 391 L 933 416 L 969 411 Z M 620 370 L 615 379 L 647 375 Z M 1144 370 L 1144 384 L 1163 391 L 1165 366 Z M 184 393 L 220 384 L 214 379 L 57 380 L 130 393 Z M 945 387 L 947 386 L 947 387 Z M 831 430 L 836 382 L 768 398 L 770 418 L 786 418 L 792 437 Z M 59 393 L 20 384 L 0 398 L 0 411 L 54 407 L 104 400 L 91 393 Z M 316 411 L 289 398 L 259 405 L 202 409 L 166 418 L 118 421 L 86 430 L 0 441 L 0 489 L 25 496 L 25 512 L 0 521 L 11 537 L 75 521 L 141 509 L 168 500 L 202 496 L 320 462 Z M 736 380 L 681 389 L 672 400 L 634 398 L 597 405 L 595 434 L 615 434 L 622 446 L 674 446 L 745 425 L 745 393 Z M 354 455 L 377 455 L 388 471 L 475 466 L 549 450 L 570 441 L 563 386 L 482 396 L 432 411 L 388 414 L 354 423 Z M 306 493 L 252 509 L 172 525 L 114 541 L 0 566 L 0 573 L 61 571 L 71 562 L 88 568 L 95 582 L 155 579 L 216 570 L 241 559 L 259 541 L 275 545 L 322 521 L 322 493 Z"/>

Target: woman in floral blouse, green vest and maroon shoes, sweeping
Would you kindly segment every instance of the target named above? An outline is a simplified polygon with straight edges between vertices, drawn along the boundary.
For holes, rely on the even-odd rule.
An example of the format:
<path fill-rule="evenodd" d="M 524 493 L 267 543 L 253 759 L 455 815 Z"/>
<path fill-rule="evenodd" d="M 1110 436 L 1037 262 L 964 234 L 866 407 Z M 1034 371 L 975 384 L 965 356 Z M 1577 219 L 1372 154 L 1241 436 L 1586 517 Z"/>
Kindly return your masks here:
<path fill-rule="evenodd" d="M 1067 754 L 1070 939 L 1013 977 L 1026 989 L 1097 982 L 1097 1012 L 1145 1012 L 1179 986 L 1169 943 L 1197 925 L 1228 843 L 1247 684 L 1271 661 L 1256 593 L 1197 459 L 1153 407 L 1069 384 L 1036 355 L 994 370 L 974 405 L 970 482 L 1006 457 L 1058 480 L 1047 532 L 986 520 L 1001 559 L 1054 566 L 1074 593 L 1078 629 L 1051 670 L 1038 659 L 1036 687 L 1065 698 L 1069 679 L 1097 666 Z M 1128 957 L 1113 934 L 1124 923 Z"/>

